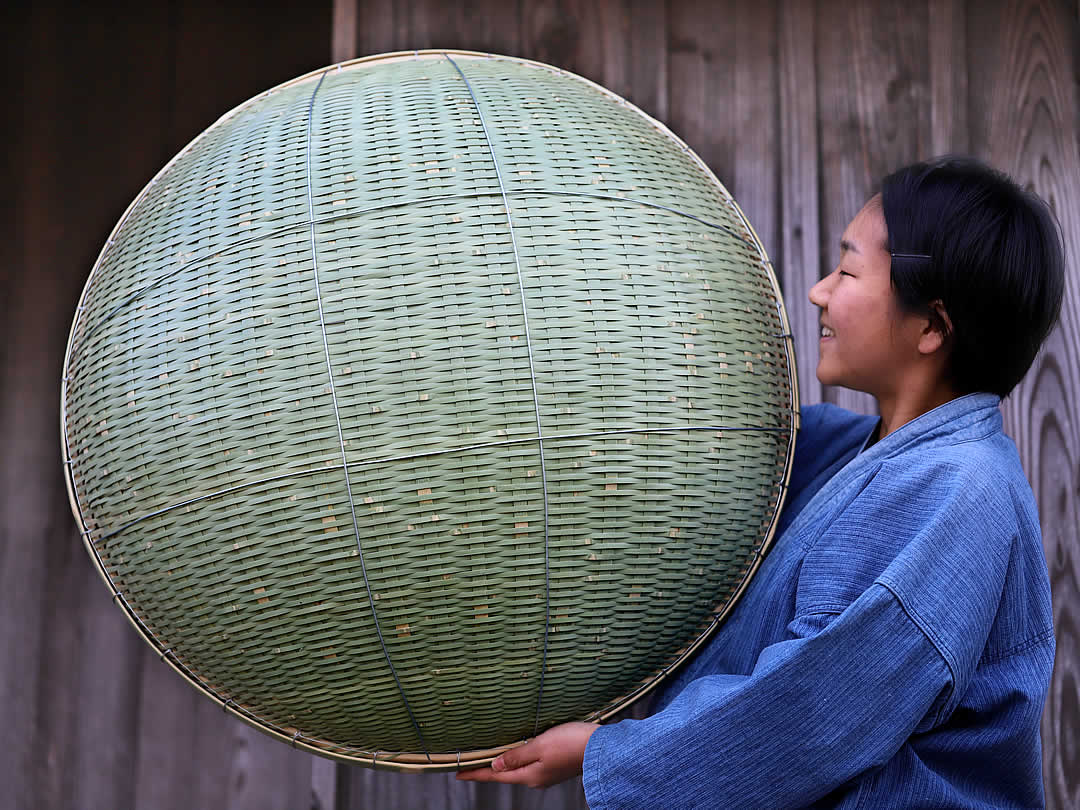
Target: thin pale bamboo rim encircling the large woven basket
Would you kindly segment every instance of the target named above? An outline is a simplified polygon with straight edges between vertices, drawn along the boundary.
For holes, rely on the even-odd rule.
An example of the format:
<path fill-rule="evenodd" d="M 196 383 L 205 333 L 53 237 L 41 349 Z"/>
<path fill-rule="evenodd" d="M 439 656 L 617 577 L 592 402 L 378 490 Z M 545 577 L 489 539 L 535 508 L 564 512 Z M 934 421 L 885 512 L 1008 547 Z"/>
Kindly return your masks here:
<path fill-rule="evenodd" d="M 799 389 L 798 389 L 798 378 L 795 366 L 795 343 L 792 334 L 791 323 L 787 318 L 787 310 L 784 307 L 783 297 L 781 295 L 780 282 L 777 279 L 775 272 L 772 268 L 772 262 L 768 258 L 768 254 L 765 251 L 765 246 L 761 244 L 761 240 L 754 230 L 746 215 L 743 213 L 739 203 L 734 200 L 732 194 L 728 191 L 727 187 L 719 180 L 715 173 L 701 160 L 698 154 L 690 149 L 687 144 L 679 138 L 675 133 L 673 133 L 663 122 L 654 119 L 652 116 L 648 114 L 642 110 L 636 105 L 627 102 L 625 98 L 617 95 L 612 91 L 604 87 L 596 82 L 593 82 L 582 76 L 564 70 L 562 68 L 555 67 L 553 65 L 548 65 L 542 62 L 536 62 L 534 59 L 525 59 L 515 56 L 503 56 L 499 54 L 483 53 L 480 51 L 463 51 L 456 49 L 428 49 L 428 50 L 417 50 L 417 51 L 395 51 L 383 54 L 373 54 L 370 56 L 362 56 L 354 59 L 348 59 L 346 62 L 337 63 L 328 67 L 319 68 L 318 70 L 312 70 L 302 76 L 298 76 L 288 81 L 282 82 L 270 90 L 267 90 L 258 95 L 243 102 L 237 107 L 232 108 L 220 118 L 218 118 L 213 124 L 203 130 L 199 135 L 191 139 L 191 141 L 185 146 L 179 152 L 176 153 L 158 173 L 150 179 L 150 181 L 143 187 L 141 191 L 135 197 L 131 202 L 124 213 L 121 215 L 120 219 L 117 221 L 116 226 L 109 233 L 109 238 L 106 240 L 105 245 L 102 247 L 97 259 L 94 261 L 94 266 L 90 271 L 90 275 L 86 278 L 86 283 L 83 285 L 82 293 L 79 296 L 79 303 L 76 308 L 76 315 L 71 322 L 71 328 L 68 333 L 67 347 L 64 352 L 64 368 L 63 376 L 60 378 L 60 455 L 64 463 L 64 483 L 67 488 L 68 502 L 71 507 L 71 513 L 75 516 L 76 523 L 78 524 L 80 535 L 82 537 L 83 545 L 86 548 L 87 553 L 93 561 L 94 568 L 97 573 L 104 580 L 109 592 L 112 594 L 113 602 L 117 602 L 123 612 L 131 622 L 132 626 L 135 627 L 136 632 L 141 636 L 141 638 L 150 645 L 150 647 L 159 654 L 160 660 L 167 663 L 181 678 L 184 678 L 188 684 L 194 687 L 198 691 L 205 694 L 211 700 L 221 705 L 224 712 L 232 714 L 239 717 L 241 720 L 252 726 L 284 743 L 292 745 L 295 748 L 306 751 L 311 754 L 318 754 L 320 756 L 333 759 L 335 761 L 349 764 L 349 765 L 362 765 L 375 768 L 381 768 L 386 770 L 393 770 L 399 772 L 436 772 L 436 771 L 453 771 L 460 770 L 463 768 L 473 768 L 489 765 L 492 759 L 495 759 L 499 754 L 509 751 L 510 748 L 516 747 L 517 745 L 526 742 L 522 740 L 509 745 L 502 745 L 494 748 L 475 750 L 468 752 L 455 752 L 451 754 L 423 754 L 418 752 L 391 752 L 391 751 L 363 751 L 359 748 L 352 748 L 346 745 L 335 744 L 327 742 L 325 740 L 305 737 L 300 729 L 288 729 L 276 726 L 269 720 L 258 716 L 257 714 L 248 711 L 244 706 L 233 702 L 229 698 L 225 698 L 215 690 L 215 688 L 207 684 L 206 681 L 200 679 L 192 672 L 190 672 L 181 661 L 179 661 L 172 650 L 166 648 L 158 638 L 153 635 L 152 631 L 146 626 L 139 616 L 131 608 L 127 600 L 124 598 L 123 593 L 117 589 L 116 583 L 109 576 L 108 570 L 105 567 L 100 556 L 97 553 L 97 549 L 94 545 L 91 534 L 92 530 L 86 527 L 85 519 L 83 518 L 82 508 L 79 503 L 78 492 L 76 491 L 76 485 L 72 477 L 71 470 L 71 456 L 67 444 L 67 381 L 68 381 L 68 368 L 71 360 L 71 351 L 75 342 L 75 333 L 79 325 L 80 314 L 84 311 L 84 301 L 86 299 L 86 294 L 94 281 L 98 268 L 108 254 L 113 240 L 119 234 L 120 230 L 123 228 L 124 224 L 127 221 L 129 216 L 136 208 L 136 206 L 146 197 L 149 190 L 157 185 L 159 179 L 165 176 L 165 174 L 173 167 L 173 164 L 179 161 L 184 156 L 191 151 L 197 144 L 199 144 L 202 138 L 206 136 L 208 132 L 217 127 L 222 122 L 232 118 L 233 116 L 242 112 L 249 105 L 255 104 L 266 96 L 272 95 L 285 87 L 291 87 L 296 84 L 301 84 L 305 82 L 318 81 L 320 78 L 325 76 L 329 71 L 341 71 L 348 69 L 362 68 L 363 66 L 369 64 L 386 64 L 390 62 L 402 62 L 402 60 L 415 60 L 415 59 L 437 59 L 440 57 L 446 58 L 448 55 L 464 57 L 467 59 L 495 59 L 499 62 L 512 62 L 522 65 L 528 65 L 537 69 L 548 70 L 553 73 L 558 73 L 576 80 L 583 82 L 588 86 L 592 87 L 594 91 L 600 93 L 605 97 L 616 102 L 617 104 L 624 106 L 638 116 L 640 116 L 645 121 L 651 126 L 656 127 L 664 136 L 670 138 L 676 146 L 679 147 L 704 173 L 706 179 L 716 184 L 724 192 L 725 202 L 729 204 L 739 217 L 739 220 L 746 228 L 750 233 L 754 246 L 757 248 L 759 255 L 761 256 L 761 267 L 768 275 L 769 283 L 772 287 L 773 294 L 777 300 L 777 309 L 780 315 L 780 322 L 783 328 L 783 341 L 784 349 L 787 359 L 787 381 L 788 390 L 791 392 L 791 430 L 788 431 L 788 442 L 787 442 L 787 456 L 784 462 L 784 475 L 780 483 L 780 494 L 777 498 L 777 505 L 773 510 L 772 517 L 769 523 L 769 528 L 766 531 L 765 539 L 761 541 L 761 545 L 754 553 L 754 557 L 751 564 L 747 566 L 745 573 L 739 585 L 735 588 L 734 592 L 728 597 L 728 599 L 720 606 L 718 606 L 713 611 L 713 618 L 708 623 L 708 626 L 689 645 L 687 645 L 683 650 L 676 652 L 677 658 L 671 665 L 665 667 L 652 679 L 644 683 L 637 689 L 630 692 L 620 699 L 617 703 L 609 706 L 607 710 L 602 712 L 596 712 L 589 717 L 585 717 L 585 721 L 590 723 L 605 723 L 615 715 L 627 708 L 631 704 L 637 700 L 649 694 L 653 689 L 656 689 L 660 684 L 667 679 L 667 676 L 679 669 L 683 663 L 685 663 L 702 645 L 705 644 L 714 634 L 717 626 L 724 621 L 728 616 L 734 605 L 739 602 L 740 597 L 746 590 L 750 580 L 753 578 L 754 573 L 757 571 L 761 564 L 761 561 L 768 554 L 769 550 L 772 548 L 772 542 L 775 539 L 777 532 L 777 522 L 780 516 L 780 512 L 784 505 L 784 501 L 787 496 L 788 483 L 791 481 L 792 473 L 792 459 L 795 455 L 795 440 L 799 430 Z"/>

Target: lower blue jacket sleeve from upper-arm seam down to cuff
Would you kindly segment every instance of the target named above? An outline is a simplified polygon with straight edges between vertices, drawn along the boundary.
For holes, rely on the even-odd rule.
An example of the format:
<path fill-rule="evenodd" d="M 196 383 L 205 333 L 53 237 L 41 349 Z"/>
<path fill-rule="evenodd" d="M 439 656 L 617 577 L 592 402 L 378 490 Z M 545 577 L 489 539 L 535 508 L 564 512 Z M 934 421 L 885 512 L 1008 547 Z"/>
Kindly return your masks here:
<path fill-rule="evenodd" d="M 950 691 L 885 585 L 788 630 L 750 675 L 699 678 L 659 714 L 597 729 L 589 807 L 802 807 L 886 762 Z"/>

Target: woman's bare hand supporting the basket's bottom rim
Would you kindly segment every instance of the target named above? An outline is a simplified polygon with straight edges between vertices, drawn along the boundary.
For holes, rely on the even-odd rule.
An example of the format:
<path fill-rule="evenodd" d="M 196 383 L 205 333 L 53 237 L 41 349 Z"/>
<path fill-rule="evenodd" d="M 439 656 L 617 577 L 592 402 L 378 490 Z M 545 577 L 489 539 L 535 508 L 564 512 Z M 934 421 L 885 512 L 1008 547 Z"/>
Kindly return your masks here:
<path fill-rule="evenodd" d="M 549 787 L 565 782 L 581 773 L 585 743 L 598 728 L 595 723 L 564 723 L 500 754 L 490 768 L 459 771 L 458 779 L 529 787 Z"/>

